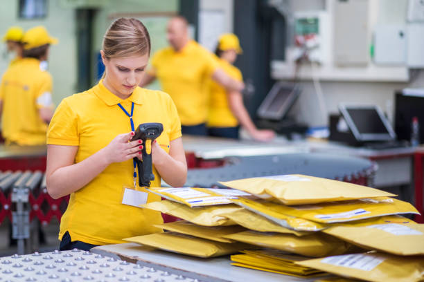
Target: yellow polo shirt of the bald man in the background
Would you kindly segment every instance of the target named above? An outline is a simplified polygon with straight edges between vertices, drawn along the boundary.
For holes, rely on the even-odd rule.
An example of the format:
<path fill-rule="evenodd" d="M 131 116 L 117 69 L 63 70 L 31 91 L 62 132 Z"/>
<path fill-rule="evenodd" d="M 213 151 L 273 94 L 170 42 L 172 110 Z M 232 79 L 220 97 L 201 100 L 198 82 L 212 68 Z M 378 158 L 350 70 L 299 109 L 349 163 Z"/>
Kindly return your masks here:
<path fill-rule="evenodd" d="M 214 56 L 191 40 L 179 52 L 168 47 L 152 57 L 149 73 L 159 79 L 162 90 L 173 98 L 183 125 L 206 122 L 209 102 L 206 84 L 218 68 Z"/>

